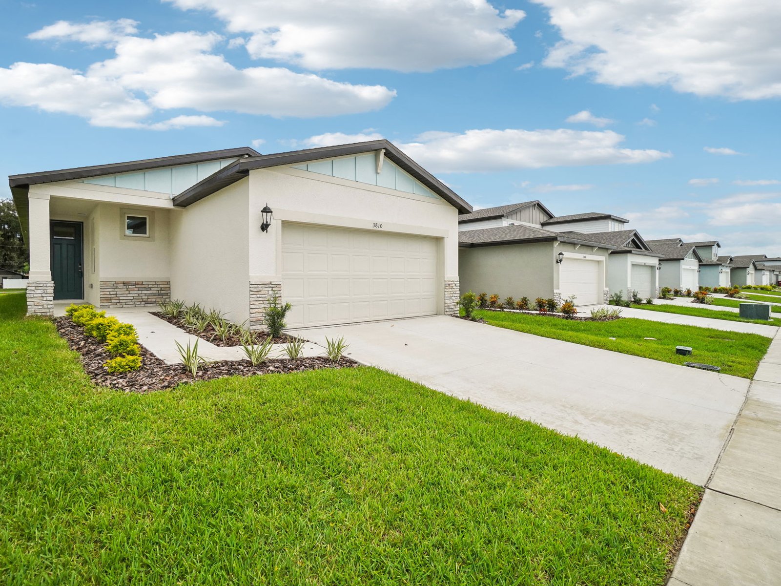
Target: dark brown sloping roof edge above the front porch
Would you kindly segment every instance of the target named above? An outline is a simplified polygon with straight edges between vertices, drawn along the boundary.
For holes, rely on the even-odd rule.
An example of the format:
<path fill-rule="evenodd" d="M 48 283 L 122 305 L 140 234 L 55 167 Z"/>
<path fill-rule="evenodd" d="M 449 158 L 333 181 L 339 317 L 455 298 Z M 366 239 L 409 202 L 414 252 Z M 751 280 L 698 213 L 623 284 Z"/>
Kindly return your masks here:
<path fill-rule="evenodd" d="M 187 165 L 189 163 L 205 163 L 215 159 L 230 159 L 231 157 L 244 156 L 255 157 L 259 155 L 260 153 L 254 148 L 249 147 L 223 148 L 219 151 L 193 152 L 189 155 L 141 159 L 138 161 L 128 161 L 127 163 L 110 163 L 108 165 L 93 165 L 87 167 L 74 167 L 73 169 L 42 171 L 41 173 L 11 175 L 8 178 L 8 184 L 10 187 L 16 188 L 26 185 L 52 183 L 53 181 L 84 179 L 87 177 L 98 177 L 100 175 L 113 175 L 115 173 L 130 173 L 131 171 L 157 169 L 159 167 Z"/>

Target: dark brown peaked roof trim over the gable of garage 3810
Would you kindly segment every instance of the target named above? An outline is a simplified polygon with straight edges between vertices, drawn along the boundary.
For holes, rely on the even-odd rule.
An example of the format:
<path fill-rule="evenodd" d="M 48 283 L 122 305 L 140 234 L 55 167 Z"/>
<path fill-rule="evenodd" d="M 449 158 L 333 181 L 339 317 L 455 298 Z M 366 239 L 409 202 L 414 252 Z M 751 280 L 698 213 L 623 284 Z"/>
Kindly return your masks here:
<path fill-rule="evenodd" d="M 335 157 L 358 155 L 363 152 L 379 151 L 385 149 L 385 156 L 401 169 L 415 177 L 434 193 L 443 198 L 446 202 L 458 209 L 459 213 L 472 213 L 472 206 L 465 202 L 451 188 L 442 183 L 437 177 L 419 166 L 410 159 L 404 152 L 390 141 L 382 139 L 380 141 L 356 142 L 351 145 L 337 145 L 320 148 L 307 148 L 302 151 L 278 152 L 273 155 L 259 155 L 248 159 L 239 159 L 235 163 L 223 167 L 223 169 L 206 177 L 199 183 L 194 184 L 186 191 L 182 191 L 173 198 L 173 205 L 187 207 L 201 199 L 212 195 L 216 191 L 225 188 L 227 185 L 235 183 L 237 180 L 247 177 L 249 171 L 253 169 L 268 169 L 269 167 L 282 165 L 296 165 L 318 159 L 333 159 Z"/>

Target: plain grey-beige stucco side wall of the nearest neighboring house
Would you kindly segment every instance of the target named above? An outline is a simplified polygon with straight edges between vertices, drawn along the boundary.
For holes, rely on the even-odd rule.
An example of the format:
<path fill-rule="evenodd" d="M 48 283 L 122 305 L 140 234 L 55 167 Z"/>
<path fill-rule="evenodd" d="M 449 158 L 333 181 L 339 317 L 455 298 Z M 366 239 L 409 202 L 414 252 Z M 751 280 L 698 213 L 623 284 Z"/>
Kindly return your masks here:
<path fill-rule="evenodd" d="M 557 252 L 553 242 L 459 248 L 461 292 L 498 293 L 502 299 L 552 297 Z"/>

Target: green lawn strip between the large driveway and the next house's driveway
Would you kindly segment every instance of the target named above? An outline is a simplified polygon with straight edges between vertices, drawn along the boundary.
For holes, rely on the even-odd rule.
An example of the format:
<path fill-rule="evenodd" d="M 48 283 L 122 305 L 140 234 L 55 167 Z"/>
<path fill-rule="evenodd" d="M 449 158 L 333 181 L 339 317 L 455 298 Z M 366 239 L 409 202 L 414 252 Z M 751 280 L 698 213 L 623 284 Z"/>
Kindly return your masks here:
<path fill-rule="evenodd" d="M 754 376 L 771 342 L 770 338 L 758 334 L 740 334 L 629 317 L 613 321 L 570 321 L 486 310 L 478 310 L 475 315 L 491 325 L 527 334 L 643 356 L 665 363 L 683 364 L 694 360 L 721 366 L 722 373 L 744 378 Z M 676 354 L 676 346 L 690 346 L 694 348 L 694 355 L 679 356 Z M 559 358 L 566 359 L 565 356 Z"/>

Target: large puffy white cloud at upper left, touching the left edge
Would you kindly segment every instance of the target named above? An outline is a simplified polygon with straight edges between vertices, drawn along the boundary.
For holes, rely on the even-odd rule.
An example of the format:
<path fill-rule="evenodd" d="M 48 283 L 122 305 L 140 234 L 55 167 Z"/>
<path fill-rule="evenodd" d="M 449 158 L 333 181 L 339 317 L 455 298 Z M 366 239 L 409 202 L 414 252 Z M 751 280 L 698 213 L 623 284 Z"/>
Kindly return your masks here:
<path fill-rule="evenodd" d="M 396 95 L 281 67 L 240 70 L 213 52 L 221 41 L 214 33 L 126 36 L 116 40 L 115 57 L 86 72 L 51 63 L 0 67 L 0 102 L 82 116 L 95 126 L 152 128 L 156 110 L 337 116 L 380 109 Z"/>

